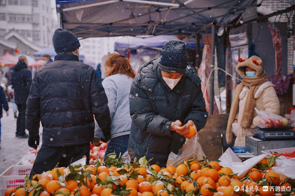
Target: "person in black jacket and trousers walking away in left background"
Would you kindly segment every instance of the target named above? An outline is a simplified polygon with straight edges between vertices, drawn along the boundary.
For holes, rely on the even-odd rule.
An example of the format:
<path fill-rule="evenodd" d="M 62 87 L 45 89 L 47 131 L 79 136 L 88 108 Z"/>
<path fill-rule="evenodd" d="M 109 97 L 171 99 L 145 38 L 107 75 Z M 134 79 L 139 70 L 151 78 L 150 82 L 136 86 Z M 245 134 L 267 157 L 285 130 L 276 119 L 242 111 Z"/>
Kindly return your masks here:
<path fill-rule="evenodd" d="M 18 120 L 16 121 L 16 133 L 18 138 L 28 138 L 26 130 L 26 102 L 30 93 L 32 75 L 28 70 L 28 60 L 25 56 L 18 58 L 18 63 L 13 67 L 11 83 L 14 89 L 14 102 L 18 106 Z"/>

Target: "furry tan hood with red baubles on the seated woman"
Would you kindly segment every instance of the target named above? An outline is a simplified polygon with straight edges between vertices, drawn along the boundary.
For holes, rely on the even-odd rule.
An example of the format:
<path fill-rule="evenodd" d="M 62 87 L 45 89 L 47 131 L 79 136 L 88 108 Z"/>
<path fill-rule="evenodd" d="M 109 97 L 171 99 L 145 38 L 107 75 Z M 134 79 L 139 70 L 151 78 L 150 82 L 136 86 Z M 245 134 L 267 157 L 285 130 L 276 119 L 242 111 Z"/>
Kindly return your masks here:
<path fill-rule="evenodd" d="M 260 76 L 264 72 L 262 60 L 258 56 L 251 56 L 249 59 L 244 60 L 241 63 L 238 63 L 236 67 L 236 71 L 238 75 L 240 75 L 242 78 L 246 77 L 245 75 L 246 67 L 250 67 L 257 71 L 255 77 Z"/>

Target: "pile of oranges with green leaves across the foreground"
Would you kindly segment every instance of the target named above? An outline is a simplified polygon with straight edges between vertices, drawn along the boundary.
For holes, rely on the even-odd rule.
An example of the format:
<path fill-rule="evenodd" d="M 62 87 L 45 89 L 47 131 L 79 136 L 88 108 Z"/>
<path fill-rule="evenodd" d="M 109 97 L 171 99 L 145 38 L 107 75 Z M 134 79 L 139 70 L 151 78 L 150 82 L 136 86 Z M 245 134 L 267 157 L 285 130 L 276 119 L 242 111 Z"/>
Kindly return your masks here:
<path fill-rule="evenodd" d="M 267 165 L 267 159 L 259 163 Z M 5 196 L 11 192 L 14 196 L 64 196 L 78 193 L 80 196 L 112 196 L 119 195 L 120 191 L 127 196 L 185 196 L 188 193 L 203 196 L 282 196 L 271 186 L 290 187 L 285 190 L 289 195 L 294 195 L 295 190 L 295 182 L 272 172 L 273 166 L 265 171 L 258 167 L 252 168 L 243 179 L 216 161 L 207 164 L 205 161 L 190 159 L 177 167 L 160 168 L 149 164 L 146 167 L 138 164 L 134 167 L 77 168 L 84 182 L 68 179 L 67 168 L 55 168 L 33 176 L 32 181 L 23 187 L 6 190 Z M 62 175 L 59 178 L 57 171 Z M 268 187 L 268 191 L 263 191 L 262 186 Z"/>

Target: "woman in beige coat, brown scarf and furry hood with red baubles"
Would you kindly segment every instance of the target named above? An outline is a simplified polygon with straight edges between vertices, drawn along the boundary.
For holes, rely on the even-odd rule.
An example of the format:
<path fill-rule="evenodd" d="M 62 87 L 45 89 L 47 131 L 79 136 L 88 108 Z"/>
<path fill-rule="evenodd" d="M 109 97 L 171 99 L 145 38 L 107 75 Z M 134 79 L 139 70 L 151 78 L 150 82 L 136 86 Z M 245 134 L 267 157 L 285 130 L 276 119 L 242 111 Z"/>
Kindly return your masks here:
<path fill-rule="evenodd" d="M 280 102 L 273 84 L 268 81 L 263 63 L 258 56 L 239 60 L 236 71 L 243 78 L 234 92 L 230 108 L 230 117 L 226 129 L 226 142 L 230 144 L 234 135 L 234 146 L 246 146 L 245 137 L 252 135 L 261 118 L 254 110 L 280 114 Z"/>

